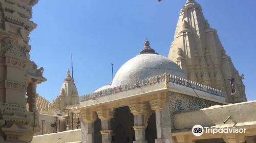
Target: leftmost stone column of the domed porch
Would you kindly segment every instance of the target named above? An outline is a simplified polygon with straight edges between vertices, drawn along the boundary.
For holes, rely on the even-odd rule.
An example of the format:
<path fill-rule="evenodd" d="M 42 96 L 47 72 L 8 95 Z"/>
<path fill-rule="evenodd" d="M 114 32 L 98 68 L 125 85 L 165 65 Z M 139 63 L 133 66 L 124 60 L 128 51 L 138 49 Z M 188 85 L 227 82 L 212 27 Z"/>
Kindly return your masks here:
<path fill-rule="evenodd" d="M 81 110 L 81 133 L 83 143 L 94 143 L 94 122 L 97 119 L 97 113 L 90 109 Z"/>

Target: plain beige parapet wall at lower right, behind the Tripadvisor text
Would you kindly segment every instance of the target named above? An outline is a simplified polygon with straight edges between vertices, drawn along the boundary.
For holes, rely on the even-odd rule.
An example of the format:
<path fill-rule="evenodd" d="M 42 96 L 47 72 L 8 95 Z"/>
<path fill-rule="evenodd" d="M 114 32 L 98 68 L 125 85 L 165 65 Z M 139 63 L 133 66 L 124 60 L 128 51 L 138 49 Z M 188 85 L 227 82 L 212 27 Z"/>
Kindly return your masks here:
<path fill-rule="evenodd" d="M 217 105 L 204 108 L 199 111 L 183 112 L 175 114 L 175 129 L 189 129 L 194 125 L 205 127 L 226 124 L 244 124 L 252 122 L 256 124 L 256 101 L 242 102 L 229 105 Z"/>

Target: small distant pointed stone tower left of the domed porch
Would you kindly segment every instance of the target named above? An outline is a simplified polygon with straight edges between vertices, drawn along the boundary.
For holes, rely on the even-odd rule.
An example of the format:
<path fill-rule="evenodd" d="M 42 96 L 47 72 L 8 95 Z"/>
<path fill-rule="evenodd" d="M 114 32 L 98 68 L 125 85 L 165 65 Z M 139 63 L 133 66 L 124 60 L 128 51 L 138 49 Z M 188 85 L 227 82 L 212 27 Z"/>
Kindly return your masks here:
<path fill-rule="evenodd" d="M 79 104 L 79 96 L 74 79 L 70 76 L 70 70 L 67 71 L 67 77 L 61 86 L 59 96 L 55 100 L 58 109 L 64 111 L 69 105 Z"/>

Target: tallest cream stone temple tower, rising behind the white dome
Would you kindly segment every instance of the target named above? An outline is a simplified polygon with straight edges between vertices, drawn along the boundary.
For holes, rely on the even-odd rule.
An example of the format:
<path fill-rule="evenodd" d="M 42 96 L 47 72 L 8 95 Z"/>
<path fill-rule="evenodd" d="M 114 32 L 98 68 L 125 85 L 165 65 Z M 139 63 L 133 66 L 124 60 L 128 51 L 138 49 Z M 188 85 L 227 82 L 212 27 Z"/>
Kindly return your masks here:
<path fill-rule="evenodd" d="M 181 9 L 169 59 L 175 61 L 189 80 L 224 90 L 226 102 L 232 102 L 228 79 L 235 79 L 234 102 L 246 101 L 243 75 L 239 76 L 217 35 L 204 18 L 201 6 L 188 0 Z"/>

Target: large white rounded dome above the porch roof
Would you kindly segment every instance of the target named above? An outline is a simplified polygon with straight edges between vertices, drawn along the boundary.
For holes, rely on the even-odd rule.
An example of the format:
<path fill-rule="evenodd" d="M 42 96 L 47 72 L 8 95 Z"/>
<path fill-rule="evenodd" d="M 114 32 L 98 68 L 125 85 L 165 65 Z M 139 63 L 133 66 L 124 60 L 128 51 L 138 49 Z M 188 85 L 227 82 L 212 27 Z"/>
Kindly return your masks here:
<path fill-rule="evenodd" d="M 145 52 L 145 51 L 143 51 Z M 124 63 L 117 71 L 112 87 L 132 83 L 161 74 L 185 78 L 183 70 L 173 61 L 158 54 L 140 54 Z"/>

